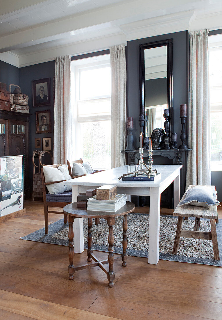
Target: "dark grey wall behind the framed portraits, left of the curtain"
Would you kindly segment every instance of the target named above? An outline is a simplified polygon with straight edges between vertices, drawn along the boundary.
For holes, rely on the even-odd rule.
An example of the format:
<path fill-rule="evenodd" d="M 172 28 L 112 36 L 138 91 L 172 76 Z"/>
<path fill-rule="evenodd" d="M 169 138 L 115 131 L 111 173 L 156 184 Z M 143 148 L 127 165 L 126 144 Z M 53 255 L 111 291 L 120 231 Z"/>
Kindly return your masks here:
<path fill-rule="evenodd" d="M 53 78 L 55 74 L 55 62 L 49 61 L 44 63 L 35 64 L 28 67 L 19 68 L 19 83 L 20 87 L 22 88 L 22 92 L 26 93 L 29 97 L 28 105 L 30 108 L 30 113 L 32 116 L 30 116 L 30 124 L 29 124 L 29 132 L 30 132 L 30 138 L 29 138 L 29 156 L 30 159 L 32 159 L 33 150 L 42 150 L 41 149 L 35 149 L 35 138 L 51 138 L 51 153 L 53 155 L 53 132 L 54 132 L 54 100 L 53 100 Z M 33 101 L 32 101 L 32 80 L 38 80 L 43 78 L 50 78 L 51 80 L 51 105 L 50 106 L 43 106 L 43 107 L 33 107 Z M 36 132 L 36 117 L 35 112 L 36 111 L 44 111 L 44 110 L 50 110 L 51 111 L 51 127 L 52 131 L 51 133 L 35 133 Z M 44 164 L 50 164 L 49 162 L 50 158 L 48 156 L 44 156 Z M 33 172 L 33 165 L 30 163 L 30 176 L 32 177 Z M 30 184 L 31 185 L 31 184 Z"/>

